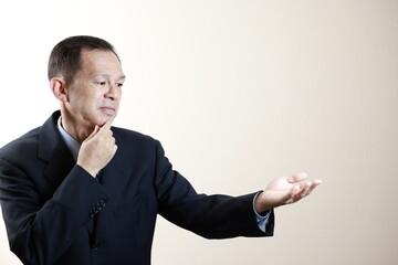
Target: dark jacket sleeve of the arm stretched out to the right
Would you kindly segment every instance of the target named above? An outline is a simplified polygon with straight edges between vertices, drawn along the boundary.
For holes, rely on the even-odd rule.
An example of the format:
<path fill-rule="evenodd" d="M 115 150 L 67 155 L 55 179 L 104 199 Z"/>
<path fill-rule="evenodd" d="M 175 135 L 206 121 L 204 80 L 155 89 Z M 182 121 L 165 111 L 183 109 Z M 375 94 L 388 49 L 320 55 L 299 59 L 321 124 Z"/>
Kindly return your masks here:
<path fill-rule="evenodd" d="M 159 213 L 164 218 L 207 239 L 273 235 L 273 211 L 265 233 L 256 224 L 255 193 L 241 197 L 198 194 L 187 179 L 172 170 L 160 144 L 156 146 L 155 186 Z"/>

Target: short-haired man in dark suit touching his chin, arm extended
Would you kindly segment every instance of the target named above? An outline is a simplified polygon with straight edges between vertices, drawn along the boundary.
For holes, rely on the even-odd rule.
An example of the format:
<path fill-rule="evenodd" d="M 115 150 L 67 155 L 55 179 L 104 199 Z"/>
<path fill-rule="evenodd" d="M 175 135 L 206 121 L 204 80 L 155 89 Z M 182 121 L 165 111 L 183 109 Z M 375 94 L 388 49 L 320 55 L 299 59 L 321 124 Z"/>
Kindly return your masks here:
<path fill-rule="evenodd" d="M 298 173 L 238 198 L 197 194 L 157 140 L 111 127 L 125 75 L 104 40 L 60 42 L 49 80 L 61 112 L 0 150 L 3 219 L 24 264 L 150 264 L 158 213 L 209 239 L 270 236 L 272 209 L 321 183 Z"/>

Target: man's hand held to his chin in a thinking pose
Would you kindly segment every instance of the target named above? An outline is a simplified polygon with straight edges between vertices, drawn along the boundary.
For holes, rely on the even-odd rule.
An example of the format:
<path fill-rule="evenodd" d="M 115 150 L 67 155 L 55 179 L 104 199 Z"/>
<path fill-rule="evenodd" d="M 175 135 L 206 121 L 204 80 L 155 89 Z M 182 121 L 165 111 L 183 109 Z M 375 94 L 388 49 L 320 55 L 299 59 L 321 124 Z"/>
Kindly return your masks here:
<path fill-rule="evenodd" d="M 77 156 L 77 165 L 84 168 L 91 176 L 95 176 L 115 156 L 117 146 L 111 130 L 112 120 L 104 126 L 95 126 L 94 131 L 82 142 Z"/>

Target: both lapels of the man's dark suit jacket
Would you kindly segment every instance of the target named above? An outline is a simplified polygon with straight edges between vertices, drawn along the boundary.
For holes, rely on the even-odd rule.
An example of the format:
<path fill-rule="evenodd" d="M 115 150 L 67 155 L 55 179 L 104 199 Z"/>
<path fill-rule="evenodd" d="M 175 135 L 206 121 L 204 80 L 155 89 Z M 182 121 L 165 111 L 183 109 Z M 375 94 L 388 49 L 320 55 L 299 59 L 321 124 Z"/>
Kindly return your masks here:
<path fill-rule="evenodd" d="M 53 190 L 49 191 L 50 198 L 75 166 L 72 155 L 56 128 L 60 115 L 60 112 L 55 112 L 43 124 L 39 134 L 38 157 L 48 163 L 43 176 L 53 186 Z M 114 209 L 123 195 L 133 170 L 132 163 L 126 158 L 127 152 L 123 148 L 123 139 L 116 134 L 114 134 L 114 137 L 118 150 L 111 162 L 101 171 L 101 184 L 113 199 L 96 215 L 95 225 L 93 225 L 93 220 L 85 224 L 90 234 L 94 233 L 100 237 L 107 227 L 106 222 L 109 221 L 111 215 L 114 213 Z"/>

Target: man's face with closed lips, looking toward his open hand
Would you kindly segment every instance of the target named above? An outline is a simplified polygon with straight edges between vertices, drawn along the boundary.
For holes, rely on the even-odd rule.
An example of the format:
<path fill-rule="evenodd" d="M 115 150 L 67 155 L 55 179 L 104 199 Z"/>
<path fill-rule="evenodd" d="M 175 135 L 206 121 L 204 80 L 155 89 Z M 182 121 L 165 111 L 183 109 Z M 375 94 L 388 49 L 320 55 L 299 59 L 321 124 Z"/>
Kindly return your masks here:
<path fill-rule="evenodd" d="M 116 117 L 125 76 L 111 51 L 83 50 L 82 62 L 69 87 L 66 110 L 73 126 L 93 128 Z"/>

